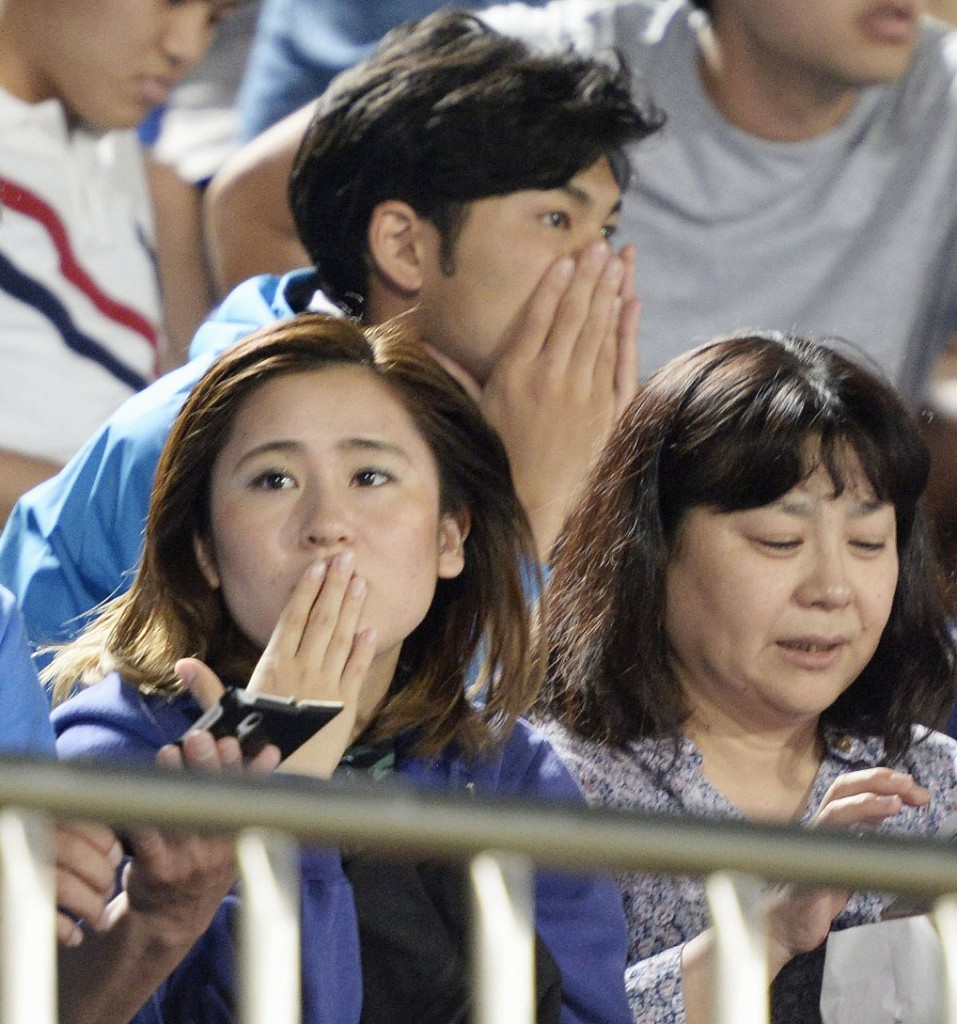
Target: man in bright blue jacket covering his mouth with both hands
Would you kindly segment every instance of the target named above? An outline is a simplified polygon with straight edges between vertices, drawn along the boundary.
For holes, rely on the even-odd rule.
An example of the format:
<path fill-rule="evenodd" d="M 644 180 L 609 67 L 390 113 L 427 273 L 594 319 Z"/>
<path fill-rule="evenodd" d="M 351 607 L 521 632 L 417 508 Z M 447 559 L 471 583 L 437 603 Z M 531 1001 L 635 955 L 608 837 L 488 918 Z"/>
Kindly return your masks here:
<path fill-rule="evenodd" d="M 209 356 L 304 308 L 401 316 L 454 360 L 503 435 L 547 559 L 636 387 L 635 253 L 607 239 L 623 147 L 657 125 L 620 69 L 538 55 L 464 12 L 387 37 L 327 93 L 299 155 L 290 197 L 313 272 L 236 288 L 192 361 L 134 395 L 13 511 L 0 582 L 31 639 L 69 639 L 129 585 L 160 450 Z"/>

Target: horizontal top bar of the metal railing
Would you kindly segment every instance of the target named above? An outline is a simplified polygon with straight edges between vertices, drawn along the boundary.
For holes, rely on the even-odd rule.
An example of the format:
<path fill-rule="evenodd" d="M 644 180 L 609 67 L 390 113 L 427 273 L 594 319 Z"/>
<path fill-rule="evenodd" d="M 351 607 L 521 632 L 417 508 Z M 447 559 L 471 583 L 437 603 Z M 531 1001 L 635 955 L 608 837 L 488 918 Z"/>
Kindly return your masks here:
<path fill-rule="evenodd" d="M 302 783 L 302 784 L 301 784 Z M 199 831 L 265 827 L 311 844 L 375 844 L 384 853 L 466 859 L 487 849 L 545 867 L 671 874 L 734 870 L 769 882 L 932 897 L 957 893 L 952 846 L 904 837 L 473 798 L 388 781 L 314 780 L 102 764 L 4 760 L 0 807 Z"/>

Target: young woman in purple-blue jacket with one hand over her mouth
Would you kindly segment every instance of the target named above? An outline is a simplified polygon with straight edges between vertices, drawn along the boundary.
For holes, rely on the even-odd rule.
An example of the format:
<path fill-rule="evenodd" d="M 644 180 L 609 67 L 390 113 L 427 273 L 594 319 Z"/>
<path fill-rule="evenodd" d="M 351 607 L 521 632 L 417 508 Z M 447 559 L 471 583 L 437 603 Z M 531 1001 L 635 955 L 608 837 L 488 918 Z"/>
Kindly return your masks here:
<path fill-rule="evenodd" d="M 192 389 L 132 587 L 47 670 L 57 696 L 100 680 L 54 710 L 58 752 L 151 762 L 201 713 L 185 681 L 209 702 L 221 680 L 343 702 L 280 770 L 579 800 L 519 718 L 542 668 L 535 564 L 499 438 L 420 345 L 319 313 L 270 325 Z M 464 1019 L 454 879 L 329 849 L 303 852 L 302 879 L 307 1024 Z M 137 1021 L 232 1020 L 233 905 Z M 539 1021 L 628 1021 L 610 882 L 538 873 L 535 922 Z"/>

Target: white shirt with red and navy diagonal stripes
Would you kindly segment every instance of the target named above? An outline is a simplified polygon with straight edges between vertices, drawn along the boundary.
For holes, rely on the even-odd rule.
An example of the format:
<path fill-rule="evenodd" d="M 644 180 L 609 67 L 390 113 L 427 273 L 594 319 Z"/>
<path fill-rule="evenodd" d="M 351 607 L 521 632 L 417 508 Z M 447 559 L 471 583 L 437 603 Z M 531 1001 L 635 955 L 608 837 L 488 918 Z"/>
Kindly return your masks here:
<path fill-rule="evenodd" d="M 66 462 L 155 378 L 161 308 L 135 133 L 0 90 L 0 447 Z"/>

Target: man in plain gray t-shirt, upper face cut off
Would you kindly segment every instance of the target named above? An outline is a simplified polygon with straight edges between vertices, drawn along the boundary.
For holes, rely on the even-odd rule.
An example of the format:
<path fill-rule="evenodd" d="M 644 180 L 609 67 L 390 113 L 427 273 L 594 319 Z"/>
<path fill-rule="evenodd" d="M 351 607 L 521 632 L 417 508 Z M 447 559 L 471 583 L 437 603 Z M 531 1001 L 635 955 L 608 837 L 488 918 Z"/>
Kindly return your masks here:
<path fill-rule="evenodd" d="M 493 7 L 616 48 L 668 121 L 634 153 L 642 373 L 715 333 L 839 335 L 918 408 L 957 329 L 957 33 L 928 0 L 554 0 Z M 706 9 L 705 9 L 706 8 Z M 957 519 L 938 417 L 937 518 Z M 954 469 L 950 469 L 951 466 Z"/>

